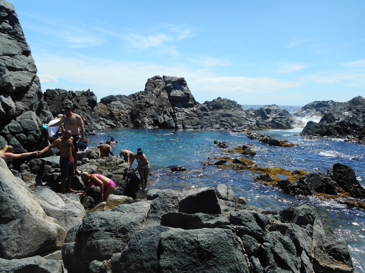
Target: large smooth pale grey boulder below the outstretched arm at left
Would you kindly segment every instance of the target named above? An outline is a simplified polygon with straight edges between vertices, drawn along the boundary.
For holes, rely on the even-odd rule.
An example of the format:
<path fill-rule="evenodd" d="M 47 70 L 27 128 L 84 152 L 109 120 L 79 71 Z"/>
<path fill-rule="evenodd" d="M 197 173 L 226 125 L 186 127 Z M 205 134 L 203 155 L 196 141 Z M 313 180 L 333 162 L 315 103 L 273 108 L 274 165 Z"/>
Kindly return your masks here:
<path fill-rule="evenodd" d="M 0 171 L 0 258 L 30 257 L 60 248 L 65 229 L 47 216 L 38 199 L 14 177 L 2 158 Z"/>

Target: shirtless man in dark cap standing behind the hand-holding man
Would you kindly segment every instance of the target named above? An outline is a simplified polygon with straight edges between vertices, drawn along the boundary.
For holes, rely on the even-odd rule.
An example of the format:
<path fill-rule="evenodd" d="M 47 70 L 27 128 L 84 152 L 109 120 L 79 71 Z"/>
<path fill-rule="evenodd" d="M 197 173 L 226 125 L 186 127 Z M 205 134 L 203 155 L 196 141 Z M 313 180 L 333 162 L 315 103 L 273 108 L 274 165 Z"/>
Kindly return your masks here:
<path fill-rule="evenodd" d="M 73 146 L 75 148 L 75 154 L 74 154 L 74 167 L 75 167 L 75 172 L 77 174 L 81 174 L 81 171 L 79 171 L 77 169 L 77 160 L 78 157 L 76 155 L 78 148 L 76 145 L 76 142 L 80 139 L 80 131 L 79 131 L 79 127 L 81 129 L 81 139 L 83 140 L 85 137 L 85 128 L 84 128 L 84 122 L 82 121 L 82 118 L 80 115 L 77 115 L 75 113 L 72 112 L 72 108 L 69 105 L 64 106 L 61 109 L 62 114 L 64 114 L 61 118 L 61 120 L 59 120 L 59 122 L 54 123 L 52 125 L 49 125 L 48 127 L 53 127 L 53 126 L 58 126 L 60 124 L 64 124 L 64 127 L 66 130 L 70 130 L 72 132 L 72 138 L 73 138 Z"/>

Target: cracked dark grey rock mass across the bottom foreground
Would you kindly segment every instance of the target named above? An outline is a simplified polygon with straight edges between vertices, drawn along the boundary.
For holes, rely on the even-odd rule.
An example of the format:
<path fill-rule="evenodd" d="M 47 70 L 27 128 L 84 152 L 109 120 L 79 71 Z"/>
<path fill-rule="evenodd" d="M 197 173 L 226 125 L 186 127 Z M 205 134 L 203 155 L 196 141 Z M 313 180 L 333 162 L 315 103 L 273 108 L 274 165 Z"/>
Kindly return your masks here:
<path fill-rule="evenodd" d="M 265 211 L 224 184 L 150 190 L 147 201 L 87 214 L 62 257 L 70 273 L 353 271 L 325 207 Z"/>

